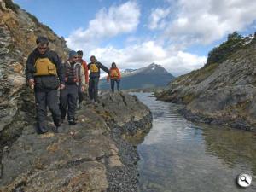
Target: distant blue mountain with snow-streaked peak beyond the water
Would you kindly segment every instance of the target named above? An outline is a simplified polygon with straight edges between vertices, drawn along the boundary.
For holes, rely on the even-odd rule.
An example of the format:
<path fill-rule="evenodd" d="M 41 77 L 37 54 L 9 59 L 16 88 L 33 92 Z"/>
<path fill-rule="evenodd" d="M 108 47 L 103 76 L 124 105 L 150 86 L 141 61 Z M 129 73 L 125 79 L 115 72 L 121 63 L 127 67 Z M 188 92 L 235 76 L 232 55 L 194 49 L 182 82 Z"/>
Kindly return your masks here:
<path fill-rule="evenodd" d="M 174 79 L 174 76 L 168 73 L 164 67 L 154 63 L 139 69 L 126 69 L 121 72 L 121 76 L 120 87 L 123 90 L 166 86 Z M 99 86 L 103 90 L 110 88 L 106 78 L 101 79 Z"/>

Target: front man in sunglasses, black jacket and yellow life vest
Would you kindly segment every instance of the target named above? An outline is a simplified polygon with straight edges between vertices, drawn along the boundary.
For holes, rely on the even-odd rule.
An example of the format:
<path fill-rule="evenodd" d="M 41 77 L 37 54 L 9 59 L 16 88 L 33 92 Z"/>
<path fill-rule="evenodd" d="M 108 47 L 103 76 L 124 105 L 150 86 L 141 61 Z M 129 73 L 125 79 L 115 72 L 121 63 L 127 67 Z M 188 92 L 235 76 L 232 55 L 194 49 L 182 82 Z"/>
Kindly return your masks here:
<path fill-rule="evenodd" d="M 59 55 L 49 49 L 49 40 L 44 36 L 37 38 L 37 48 L 26 60 L 26 80 L 34 90 L 38 134 L 48 130 L 46 123 L 47 107 L 52 113 L 54 131 L 61 126 L 61 111 L 58 106 L 58 88 L 65 88 L 64 68 Z"/>

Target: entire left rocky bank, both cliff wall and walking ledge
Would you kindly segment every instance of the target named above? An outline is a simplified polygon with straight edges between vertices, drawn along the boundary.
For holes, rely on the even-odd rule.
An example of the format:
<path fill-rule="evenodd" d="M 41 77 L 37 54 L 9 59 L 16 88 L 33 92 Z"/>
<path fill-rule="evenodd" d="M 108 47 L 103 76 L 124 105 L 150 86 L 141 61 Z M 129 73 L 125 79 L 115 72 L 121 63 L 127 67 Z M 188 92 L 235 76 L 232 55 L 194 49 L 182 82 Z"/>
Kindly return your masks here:
<path fill-rule="evenodd" d="M 151 113 L 137 97 L 106 94 L 78 111 L 77 125 L 35 133 L 24 67 L 38 35 L 67 58 L 64 38 L 11 0 L 0 0 L 0 191 L 137 191 L 137 148 L 122 138 L 151 127 Z"/>

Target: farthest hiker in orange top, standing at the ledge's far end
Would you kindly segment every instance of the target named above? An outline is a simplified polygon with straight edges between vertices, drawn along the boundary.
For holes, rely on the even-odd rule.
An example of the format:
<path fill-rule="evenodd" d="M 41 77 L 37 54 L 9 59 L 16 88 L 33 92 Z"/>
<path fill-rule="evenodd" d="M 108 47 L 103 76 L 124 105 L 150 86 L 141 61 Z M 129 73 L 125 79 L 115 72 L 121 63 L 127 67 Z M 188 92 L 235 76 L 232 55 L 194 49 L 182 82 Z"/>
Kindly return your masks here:
<path fill-rule="evenodd" d="M 114 92 L 114 82 L 116 82 L 117 90 L 119 90 L 119 84 L 120 84 L 120 79 L 121 79 L 121 74 L 119 72 L 119 68 L 116 67 L 116 64 L 114 62 L 111 64 L 111 68 L 109 69 L 109 72 L 110 73 L 108 74 L 107 81 L 109 82 L 109 79 L 110 79 L 111 90 L 112 90 L 112 92 Z"/>

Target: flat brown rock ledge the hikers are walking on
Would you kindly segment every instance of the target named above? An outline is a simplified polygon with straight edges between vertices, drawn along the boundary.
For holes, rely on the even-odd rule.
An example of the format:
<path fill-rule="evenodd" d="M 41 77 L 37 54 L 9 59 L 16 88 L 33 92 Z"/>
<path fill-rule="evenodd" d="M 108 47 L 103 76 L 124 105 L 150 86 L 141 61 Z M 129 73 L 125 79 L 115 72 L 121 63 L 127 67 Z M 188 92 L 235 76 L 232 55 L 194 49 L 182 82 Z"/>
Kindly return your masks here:
<path fill-rule="evenodd" d="M 122 135 L 149 131 L 149 109 L 136 96 L 107 93 L 97 105 L 84 103 L 77 116 L 77 125 L 64 122 L 59 133 L 38 135 L 24 124 L 2 147 L 0 191 L 137 191 L 137 147 Z"/>

